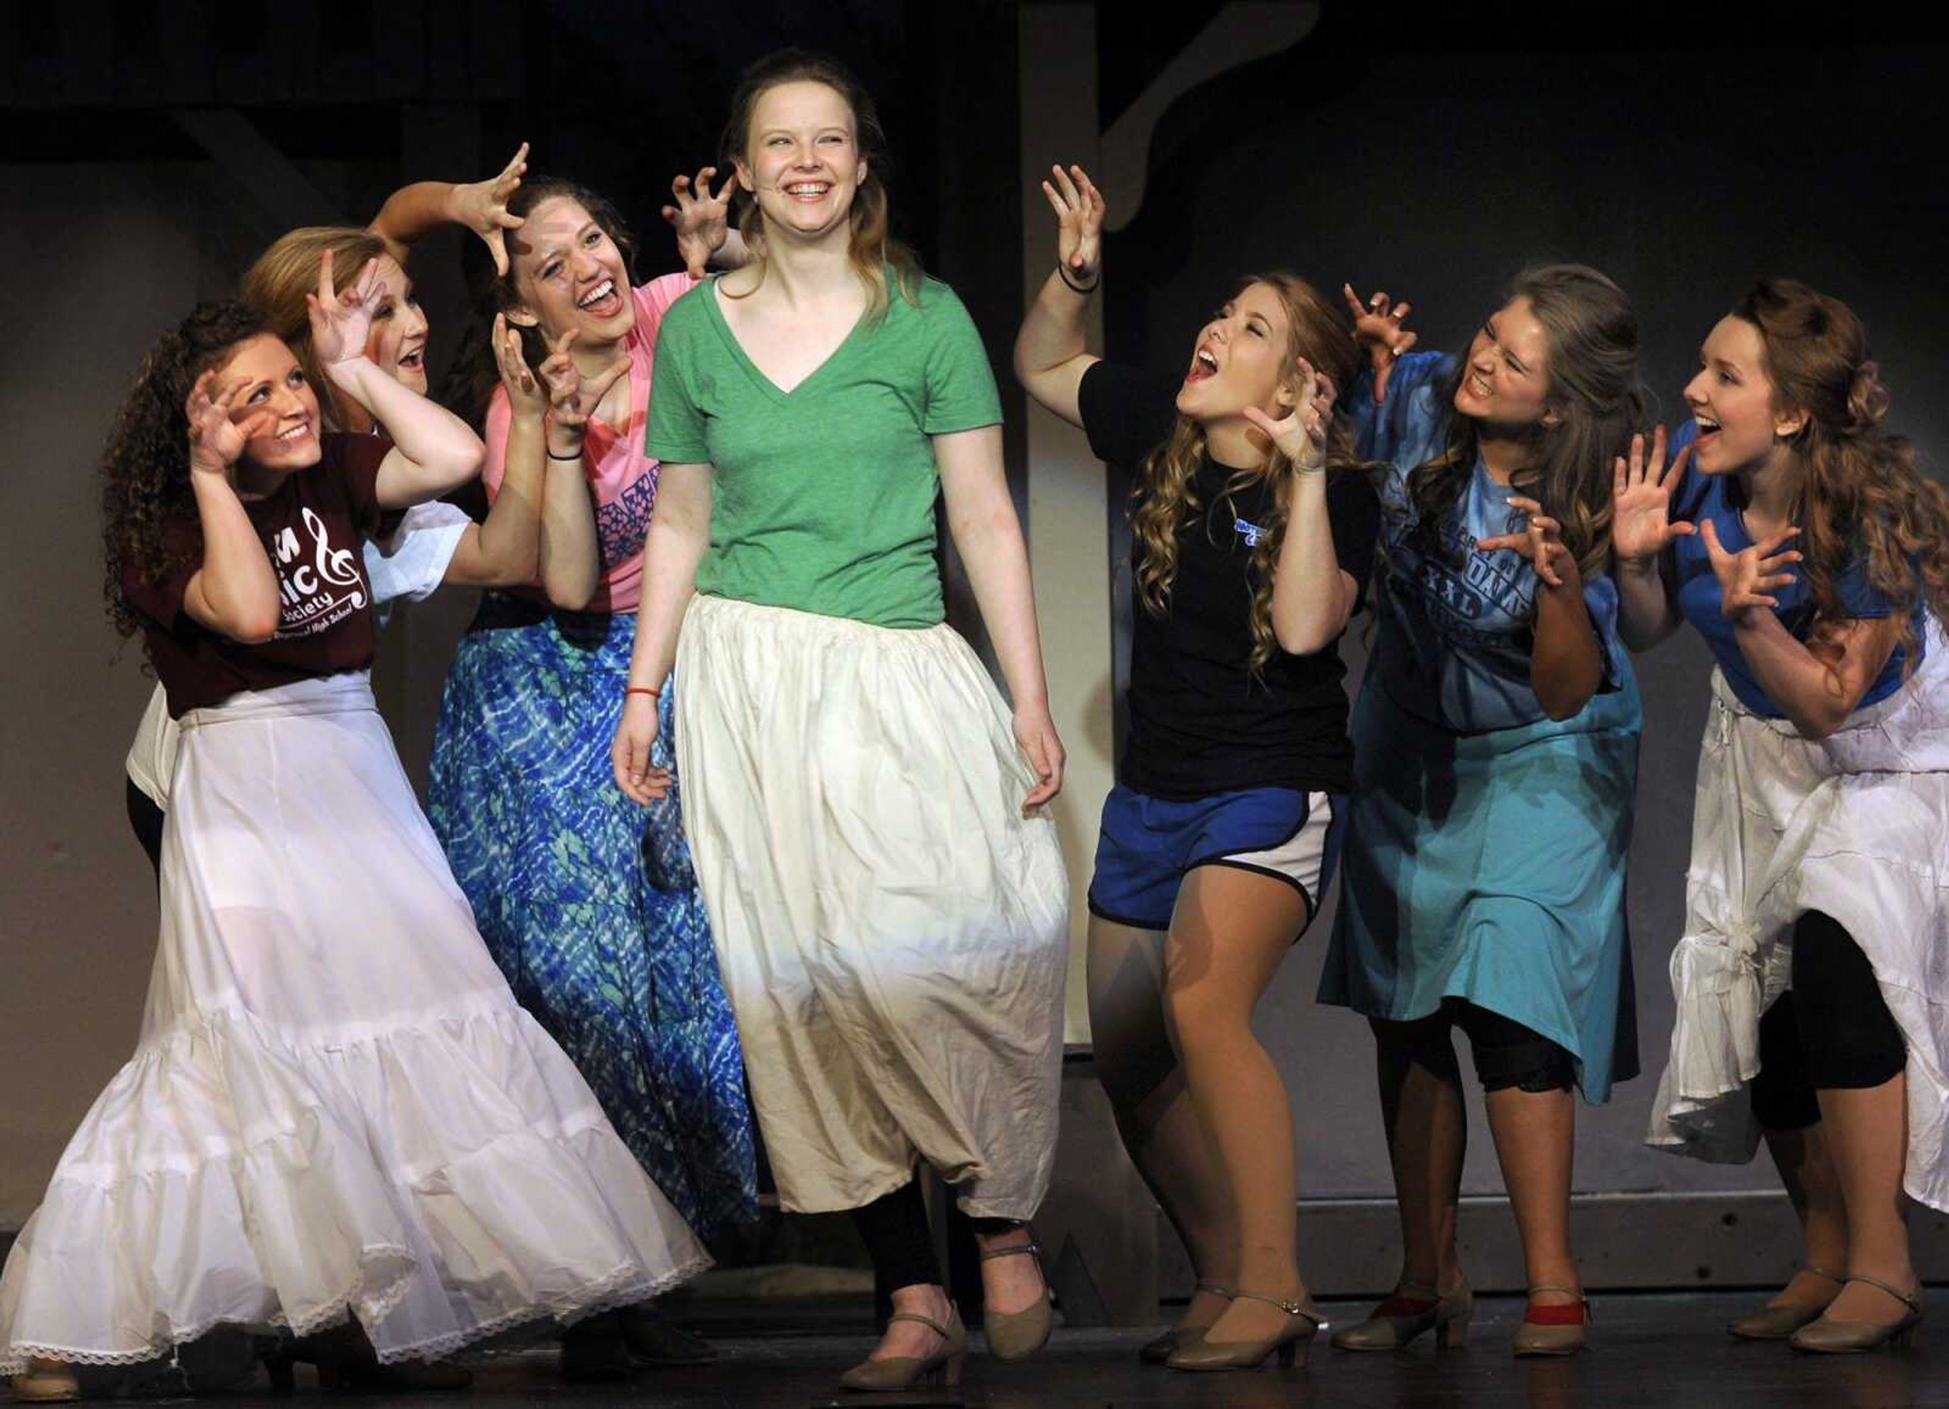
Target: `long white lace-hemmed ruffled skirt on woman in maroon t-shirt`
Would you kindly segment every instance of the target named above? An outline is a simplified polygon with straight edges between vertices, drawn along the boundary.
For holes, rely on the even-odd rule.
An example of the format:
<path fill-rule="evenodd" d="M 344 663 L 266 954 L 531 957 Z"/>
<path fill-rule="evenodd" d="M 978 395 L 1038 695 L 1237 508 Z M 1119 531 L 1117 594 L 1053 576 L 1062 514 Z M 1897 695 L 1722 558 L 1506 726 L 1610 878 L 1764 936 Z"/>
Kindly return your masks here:
<path fill-rule="evenodd" d="M 709 1259 L 474 930 L 341 674 L 183 717 L 134 1056 L 0 1278 L 0 1372 L 357 1315 L 380 1360 Z"/>

